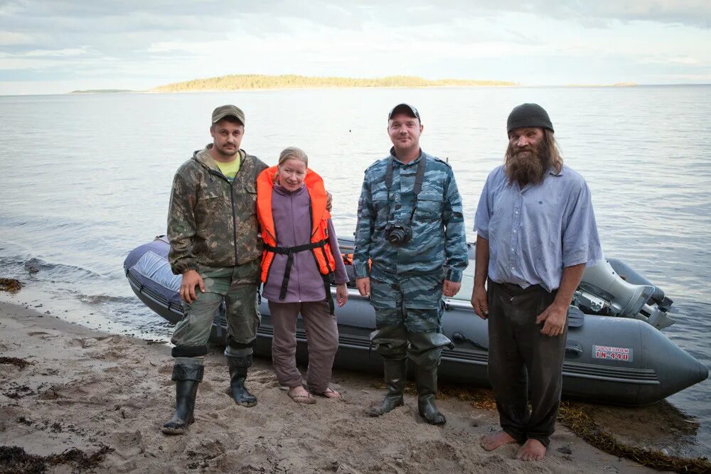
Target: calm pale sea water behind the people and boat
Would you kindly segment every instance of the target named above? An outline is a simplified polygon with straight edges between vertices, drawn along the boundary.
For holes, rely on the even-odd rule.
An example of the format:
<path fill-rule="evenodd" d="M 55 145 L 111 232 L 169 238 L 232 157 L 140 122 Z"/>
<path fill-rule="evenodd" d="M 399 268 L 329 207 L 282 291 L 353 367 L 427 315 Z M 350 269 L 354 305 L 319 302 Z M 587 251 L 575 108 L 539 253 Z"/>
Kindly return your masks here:
<path fill-rule="evenodd" d="M 210 141 L 210 112 L 220 104 L 245 110 L 242 146 L 265 162 L 275 163 L 286 146 L 309 154 L 344 235 L 355 227 L 363 170 L 390 147 L 388 110 L 415 104 L 422 147 L 454 168 L 474 239 L 474 210 L 486 175 L 501 163 L 508 112 L 538 102 L 566 163 L 592 189 L 605 253 L 673 298 L 678 323 L 665 333 L 711 366 L 709 97 L 711 86 L 0 97 L 0 276 L 26 283 L 0 298 L 97 328 L 169 335 L 133 296 L 122 261 L 165 233 L 173 173 Z M 710 380 L 626 413 L 650 410 L 686 426 L 661 443 L 710 455 Z"/>

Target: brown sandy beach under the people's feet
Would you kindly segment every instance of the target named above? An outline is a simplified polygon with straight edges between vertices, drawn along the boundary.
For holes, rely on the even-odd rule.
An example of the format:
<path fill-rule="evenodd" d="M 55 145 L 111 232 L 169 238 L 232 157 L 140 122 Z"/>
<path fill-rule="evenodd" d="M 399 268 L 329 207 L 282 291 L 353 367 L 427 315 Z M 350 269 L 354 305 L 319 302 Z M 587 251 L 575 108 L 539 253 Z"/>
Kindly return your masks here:
<path fill-rule="evenodd" d="M 76 448 L 96 472 L 658 472 L 599 451 L 560 424 L 535 465 L 515 460 L 515 445 L 488 453 L 479 438 L 496 429 L 496 412 L 453 398 L 438 402 L 444 428 L 422 421 L 412 395 L 373 419 L 367 410 L 380 400 L 382 381 L 353 372 L 333 374 L 342 400 L 303 405 L 279 387 L 269 360 L 256 360 L 247 387 L 259 404 L 236 406 L 225 393 L 220 348 L 205 357 L 196 423 L 185 436 L 166 436 L 159 428 L 173 413 L 171 370 L 168 345 L 0 303 L 0 450 L 52 456 Z M 76 456 L 52 459 L 48 472 L 81 466 Z"/>

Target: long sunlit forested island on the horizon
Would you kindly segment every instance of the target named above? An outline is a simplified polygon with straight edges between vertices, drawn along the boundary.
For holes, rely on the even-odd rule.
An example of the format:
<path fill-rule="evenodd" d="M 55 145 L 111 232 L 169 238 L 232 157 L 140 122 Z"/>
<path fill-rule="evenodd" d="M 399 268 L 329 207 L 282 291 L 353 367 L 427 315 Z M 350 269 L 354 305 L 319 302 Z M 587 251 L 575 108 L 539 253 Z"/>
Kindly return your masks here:
<path fill-rule="evenodd" d="M 501 80 L 437 79 L 415 76 L 387 76 L 374 79 L 356 77 L 309 77 L 299 75 L 235 74 L 156 87 L 153 92 L 190 92 L 198 90 L 294 89 L 318 87 L 446 87 L 507 86 L 516 82 Z"/>

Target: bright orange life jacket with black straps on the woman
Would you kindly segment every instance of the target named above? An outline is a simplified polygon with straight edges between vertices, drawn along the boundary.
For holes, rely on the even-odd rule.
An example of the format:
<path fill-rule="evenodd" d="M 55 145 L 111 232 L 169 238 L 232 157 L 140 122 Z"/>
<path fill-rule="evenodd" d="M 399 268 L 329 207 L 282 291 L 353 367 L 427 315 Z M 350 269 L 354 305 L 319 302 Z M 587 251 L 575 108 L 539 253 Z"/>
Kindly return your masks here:
<path fill-rule="evenodd" d="M 311 241 L 308 244 L 296 247 L 277 247 L 277 232 L 274 227 L 274 215 L 272 215 L 272 189 L 274 187 L 274 176 L 277 175 L 277 166 L 267 168 L 257 177 L 257 219 L 262 227 L 262 241 L 264 242 L 264 252 L 262 253 L 262 273 L 261 279 L 266 283 L 269 276 L 269 268 L 272 266 L 275 254 L 286 254 L 287 268 L 284 271 L 284 281 L 282 281 L 282 291 L 279 295 L 283 299 L 287 293 L 289 284 L 289 271 L 293 263 L 293 254 L 311 250 L 319 265 L 319 273 L 324 276 L 324 288 L 326 298 L 331 301 L 331 274 L 336 269 L 336 262 L 333 260 L 333 252 L 328 244 L 328 219 L 331 212 L 326 210 L 326 188 L 321 176 L 310 169 L 306 170 L 304 184 L 309 191 L 311 199 Z M 331 304 L 333 301 L 331 301 Z"/>

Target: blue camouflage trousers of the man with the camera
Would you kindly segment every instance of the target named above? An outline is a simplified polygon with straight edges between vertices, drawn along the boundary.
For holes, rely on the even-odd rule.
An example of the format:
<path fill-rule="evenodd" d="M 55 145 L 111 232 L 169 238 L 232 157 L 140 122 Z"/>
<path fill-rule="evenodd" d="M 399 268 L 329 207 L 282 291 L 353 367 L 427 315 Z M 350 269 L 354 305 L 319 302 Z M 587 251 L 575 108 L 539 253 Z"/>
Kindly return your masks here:
<path fill-rule="evenodd" d="M 421 365 L 439 364 L 442 347 L 442 281 L 437 272 L 424 276 L 370 275 L 370 304 L 375 308 L 375 331 L 370 339 L 386 358 L 410 357 Z"/>

